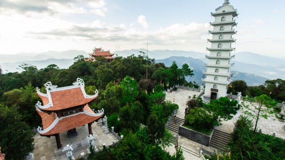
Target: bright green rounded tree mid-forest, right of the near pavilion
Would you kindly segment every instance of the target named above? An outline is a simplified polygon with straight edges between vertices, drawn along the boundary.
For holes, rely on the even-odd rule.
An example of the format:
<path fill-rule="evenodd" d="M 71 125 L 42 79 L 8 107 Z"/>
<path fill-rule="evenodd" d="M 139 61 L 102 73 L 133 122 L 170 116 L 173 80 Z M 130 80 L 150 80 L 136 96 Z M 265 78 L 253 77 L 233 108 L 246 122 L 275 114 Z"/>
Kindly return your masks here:
<path fill-rule="evenodd" d="M 135 97 L 138 95 L 137 82 L 134 79 L 131 79 L 129 76 L 126 76 L 122 79 L 119 86 L 122 88 L 122 98 L 120 103 L 132 103 Z"/>

